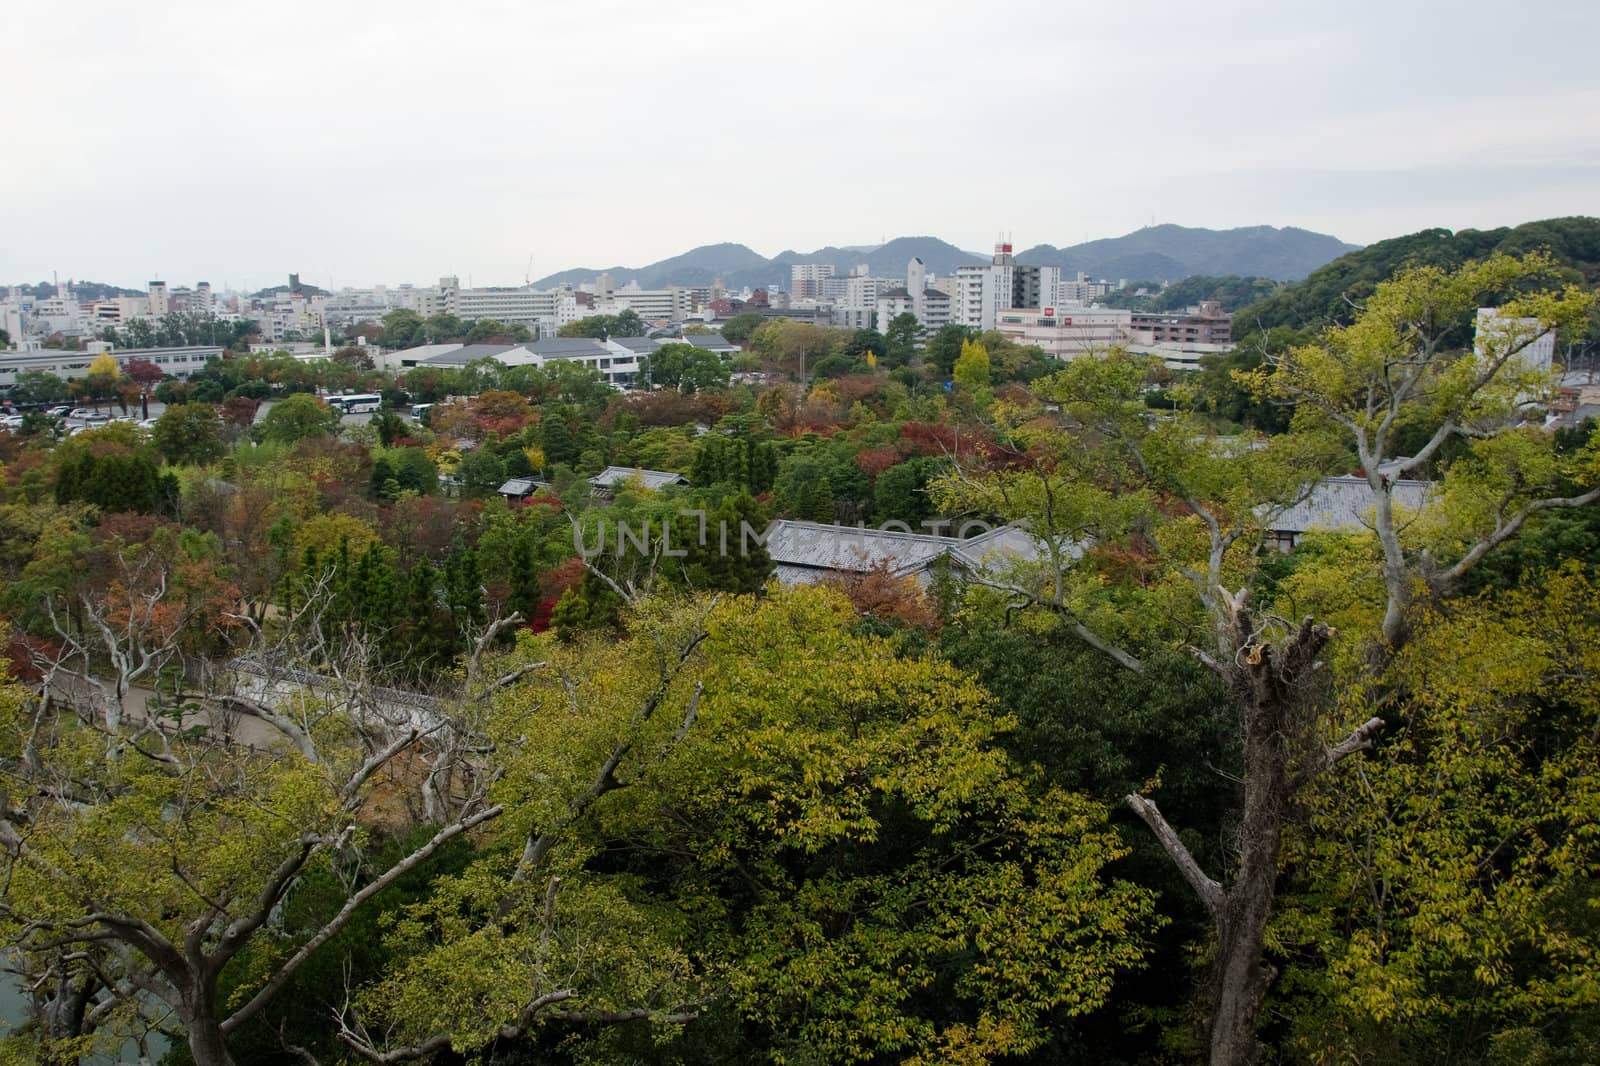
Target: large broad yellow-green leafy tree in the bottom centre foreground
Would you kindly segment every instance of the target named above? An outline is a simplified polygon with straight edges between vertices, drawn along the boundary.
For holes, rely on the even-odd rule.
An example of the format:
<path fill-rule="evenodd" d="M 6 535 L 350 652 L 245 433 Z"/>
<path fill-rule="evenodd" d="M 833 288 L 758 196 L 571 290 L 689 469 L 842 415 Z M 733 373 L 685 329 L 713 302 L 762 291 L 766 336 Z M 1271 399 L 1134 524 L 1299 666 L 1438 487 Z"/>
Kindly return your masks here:
<path fill-rule="evenodd" d="M 1032 797 L 989 698 L 856 635 L 843 597 L 640 603 L 626 632 L 530 648 L 547 667 L 488 727 L 498 856 L 395 927 L 370 1052 L 720 1010 L 786 1056 L 986 1061 L 1144 956 L 1104 810 Z"/>

